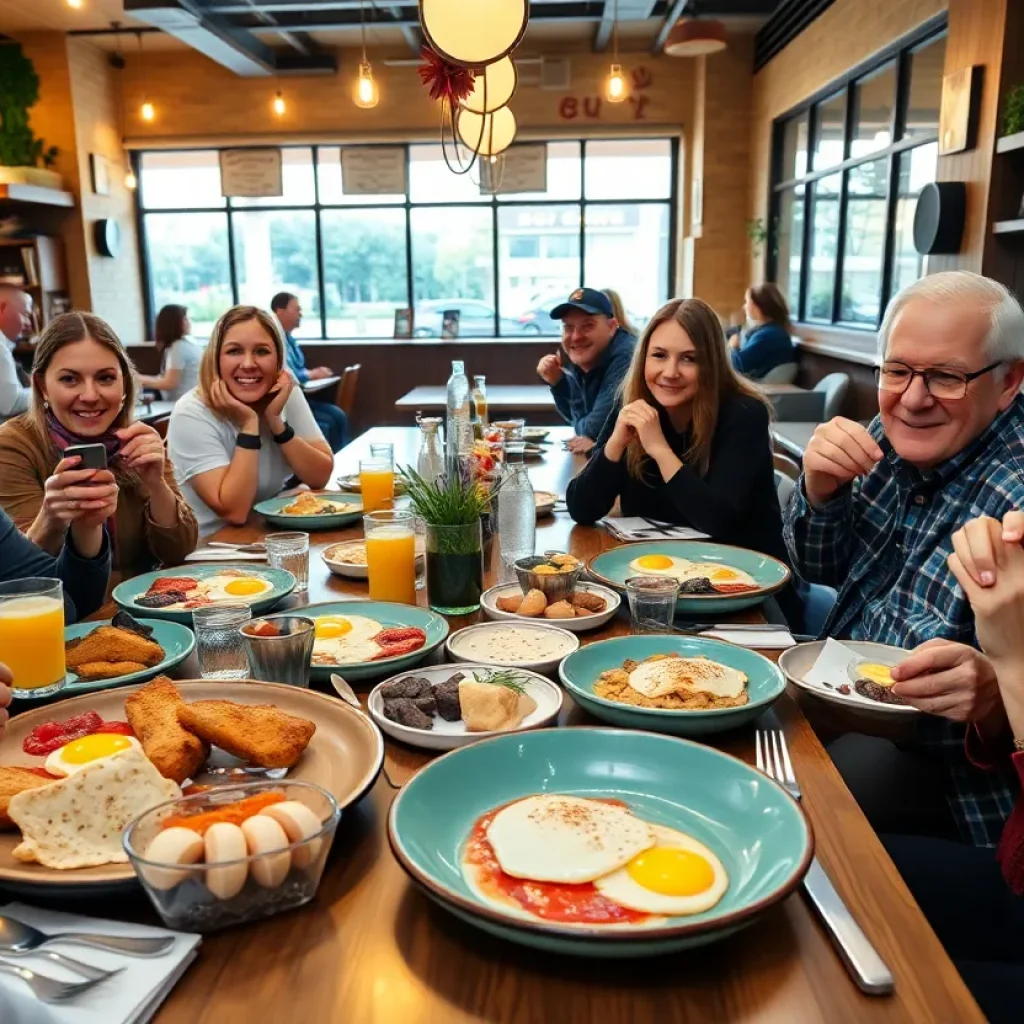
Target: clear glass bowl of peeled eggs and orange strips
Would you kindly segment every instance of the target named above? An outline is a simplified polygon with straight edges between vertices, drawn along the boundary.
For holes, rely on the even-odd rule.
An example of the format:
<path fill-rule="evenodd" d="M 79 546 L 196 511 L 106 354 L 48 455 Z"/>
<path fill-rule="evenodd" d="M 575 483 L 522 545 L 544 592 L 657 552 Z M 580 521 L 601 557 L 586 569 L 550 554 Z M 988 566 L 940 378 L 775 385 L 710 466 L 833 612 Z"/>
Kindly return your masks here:
<path fill-rule="evenodd" d="M 340 819 L 311 782 L 218 785 L 151 808 L 123 844 L 168 928 L 213 932 L 308 903 Z"/>

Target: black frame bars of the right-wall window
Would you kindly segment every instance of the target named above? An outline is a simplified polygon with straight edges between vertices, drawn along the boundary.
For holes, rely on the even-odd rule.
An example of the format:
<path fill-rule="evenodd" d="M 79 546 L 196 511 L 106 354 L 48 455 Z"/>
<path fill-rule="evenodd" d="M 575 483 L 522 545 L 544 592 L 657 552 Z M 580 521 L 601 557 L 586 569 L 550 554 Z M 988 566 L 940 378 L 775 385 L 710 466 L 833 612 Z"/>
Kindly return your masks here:
<path fill-rule="evenodd" d="M 768 239 L 765 247 L 764 265 L 765 280 L 776 281 L 778 276 L 778 236 L 781 225 L 782 196 L 803 185 L 803 197 L 794 197 L 794 206 L 803 205 L 803 237 L 800 243 L 800 282 L 797 289 L 799 295 L 798 307 L 793 310 L 796 323 L 812 325 L 815 328 L 839 328 L 844 331 L 872 332 L 877 331 L 885 314 L 886 306 L 892 295 L 893 259 L 895 252 L 896 207 L 899 193 L 899 166 L 903 154 L 919 146 L 938 142 L 938 128 L 933 132 L 904 137 L 904 108 L 910 86 L 910 71 L 912 54 L 943 37 L 948 37 L 947 15 L 945 12 L 929 18 L 913 32 L 892 45 L 880 50 L 867 60 L 850 69 L 846 74 L 828 82 L 813 95 L 798 105 L 786 111 L 772 122 L 771 162 L 768 185 Z M 896 69 L 895 94 L 890 116 L 890 144 L 864 154 L 851 157 L 851 142 L 854 120 L 857 116 L 856 87 L 864 80 L 878 74 L 887 65 Z M 818 132 L 819 105 L 842 95 L 844 99 L 843 122 L 843 159 L 829 166 L 818 166 L 814 160 L 814 150 Z M 808 153 L 806 171 L 804 174 L 782 179 L 784 161 L 785 127 L 802 117 L 807 118 Z M 850 202 L 850 173 L 854 168 L 865 164 L 886 161 L 886 207 L 885 236 L 883 239 L 882 275 L 879 289 L 879 316 L 873 325 L 844 321 L 841 318 L 843 309 L 843 264 L 846 254 L 846 233 L 849 223 L 848 207 Z M 831 310 L 827 319 L 811 319 L 807 316 L 809 288 L 811 279 L 811 244 L 813 237 L 812 215 L 814 212 L 814 184 L 822 178 L 841 175 L 839 195 L 839 217 L 837 222 L 836 262 L 833 269 Z M 792 258 L 792 257 L 791 257 Z M 786 291 L 792 289 L 787 285 Z"/>

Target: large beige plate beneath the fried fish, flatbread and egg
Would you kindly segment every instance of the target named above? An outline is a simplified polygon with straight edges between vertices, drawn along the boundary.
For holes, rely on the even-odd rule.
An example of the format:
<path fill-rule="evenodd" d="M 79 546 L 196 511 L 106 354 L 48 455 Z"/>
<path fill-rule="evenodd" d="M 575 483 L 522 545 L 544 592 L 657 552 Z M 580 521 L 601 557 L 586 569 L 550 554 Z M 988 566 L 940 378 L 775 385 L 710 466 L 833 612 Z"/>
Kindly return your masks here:
<path fill-rule="evenodd" d="M 289 715 L 314 722 L 316 732 L 288 777 L 322 785 L 334 795 L 342 808 L 358 800 L 373 785 L 384 763 L 384 739 L 370 719 L 348 705 L 315 690 L 255 681 L 191 680 L 175 681 L 174 685 L 187 702 L 233 700 L 238 703 L 271 703 Z M 98 712 L 108 721 L 125 721 L 125 697 L 140 687 L 87 693 L 18 715 L 10 721 L 7 731 L 0 738 L 0 764 L 42 767 L 45 758 L 34 758 L 22 751 L 22 741 L 37 725 L 49 721 L 62 722 L 86 711 Z M 200 775 L 196 781 L 209 782 L 212 778 Z M 226 776 L 218 778 L 224 780 Z M 16 830 L 0 833 L 0 885 L 82 891 L 135 881 L 135 872 L 127 863 L 68 871 L 43 867 L 42 864 L 24 864 L 11 856 L 11 851 L 19 842 L 20 834 Z"/>

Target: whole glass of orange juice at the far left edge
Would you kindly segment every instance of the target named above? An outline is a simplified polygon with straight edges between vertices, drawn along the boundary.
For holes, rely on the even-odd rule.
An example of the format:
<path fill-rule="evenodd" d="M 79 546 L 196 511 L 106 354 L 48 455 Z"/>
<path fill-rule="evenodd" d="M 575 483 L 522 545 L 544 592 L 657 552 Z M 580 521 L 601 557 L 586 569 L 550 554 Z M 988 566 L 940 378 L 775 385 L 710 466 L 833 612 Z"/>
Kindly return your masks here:
<path fill-rule="evenodd" d="M 56 693 L 66 676 L 63 585 L 30 577 L 0 584 L 0 662 L 14 677 L 14 696 Z"/>

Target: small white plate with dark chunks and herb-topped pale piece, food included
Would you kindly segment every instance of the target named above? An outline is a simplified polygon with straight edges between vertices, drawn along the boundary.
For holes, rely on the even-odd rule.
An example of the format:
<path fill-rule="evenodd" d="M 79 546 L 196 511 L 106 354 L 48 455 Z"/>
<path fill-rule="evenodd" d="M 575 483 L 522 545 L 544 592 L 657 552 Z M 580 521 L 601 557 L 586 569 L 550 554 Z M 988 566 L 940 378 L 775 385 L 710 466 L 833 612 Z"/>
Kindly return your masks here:
<path fill-rule="evenodd" d="M 399 673 L 375 686 L 367 700 L 383 732 L 430 751 L 550 725 L 561 707 L 562 691 L 536 672 L 487 665 Z"/>

